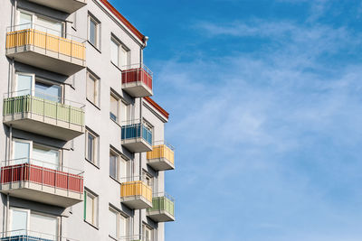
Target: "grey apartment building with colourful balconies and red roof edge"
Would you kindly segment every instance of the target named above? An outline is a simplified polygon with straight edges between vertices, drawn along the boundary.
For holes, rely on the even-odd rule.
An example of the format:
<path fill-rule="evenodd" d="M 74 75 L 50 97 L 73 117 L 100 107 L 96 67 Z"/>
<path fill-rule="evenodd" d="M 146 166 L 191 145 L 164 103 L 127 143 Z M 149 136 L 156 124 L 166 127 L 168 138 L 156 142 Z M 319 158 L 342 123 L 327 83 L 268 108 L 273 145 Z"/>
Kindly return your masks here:
<path fill-rule="evenodd" d="M 107 0 L 0 7 L 0 240 L 163 241 L 174 149 L 148 37 Z"/>

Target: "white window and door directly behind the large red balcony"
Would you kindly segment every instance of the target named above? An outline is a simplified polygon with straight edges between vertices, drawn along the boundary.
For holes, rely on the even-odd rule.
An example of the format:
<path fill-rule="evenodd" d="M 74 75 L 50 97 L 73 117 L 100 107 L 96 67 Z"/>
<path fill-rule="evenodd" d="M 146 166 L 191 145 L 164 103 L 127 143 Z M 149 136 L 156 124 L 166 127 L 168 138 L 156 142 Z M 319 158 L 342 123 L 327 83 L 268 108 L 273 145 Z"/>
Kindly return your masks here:
<path fill-rule="evenodd" d="M 13 164 L 32 163 L 34 165 L 59 170 L 61 152 L 32 141 L 15 139 L 13 142 Z"/>

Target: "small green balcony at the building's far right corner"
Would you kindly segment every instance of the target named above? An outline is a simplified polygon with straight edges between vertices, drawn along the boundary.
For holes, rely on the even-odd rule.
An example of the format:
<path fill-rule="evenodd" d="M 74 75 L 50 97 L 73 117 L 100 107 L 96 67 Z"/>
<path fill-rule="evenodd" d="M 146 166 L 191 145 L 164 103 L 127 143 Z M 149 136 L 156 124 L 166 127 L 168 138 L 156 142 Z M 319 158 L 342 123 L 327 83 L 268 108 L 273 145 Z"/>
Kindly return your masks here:
<path fill-rule="evenodd" d="M 165 193 L 157 193 L 152 199 L 152 208 L 148 209 L 147 215 L 157 222 L 175 221 L 174 199 Z"/>

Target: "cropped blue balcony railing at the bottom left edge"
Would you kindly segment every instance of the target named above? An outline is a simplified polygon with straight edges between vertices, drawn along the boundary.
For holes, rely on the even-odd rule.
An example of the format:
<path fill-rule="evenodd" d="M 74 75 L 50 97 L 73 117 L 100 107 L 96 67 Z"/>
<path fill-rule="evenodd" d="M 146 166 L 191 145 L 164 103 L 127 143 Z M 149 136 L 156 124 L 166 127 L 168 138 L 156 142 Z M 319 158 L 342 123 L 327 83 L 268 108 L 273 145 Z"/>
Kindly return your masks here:
<path fill-rule="evenodd" d="M 1 241 L 79 241 L 64 236 L 54 236 L 28 229 L 17 229 L 0 233 Z"/>

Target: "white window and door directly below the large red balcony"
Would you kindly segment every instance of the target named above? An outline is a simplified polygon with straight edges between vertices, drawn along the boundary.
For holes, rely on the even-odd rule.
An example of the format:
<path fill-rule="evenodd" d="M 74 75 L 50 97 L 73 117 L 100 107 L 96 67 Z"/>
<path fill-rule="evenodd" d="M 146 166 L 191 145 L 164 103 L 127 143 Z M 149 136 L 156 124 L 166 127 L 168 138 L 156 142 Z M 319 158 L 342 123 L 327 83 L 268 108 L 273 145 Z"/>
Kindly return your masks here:
<path fill-rule="evenodd" d="M 28 235 L 44 239 L 55 239 L 58 236 L 58 218 L 33 212 L 29 209 L 10 208 L 10 231 L 12 236 Z M 46 234 L 44 234 L 46 230 Z"/>

